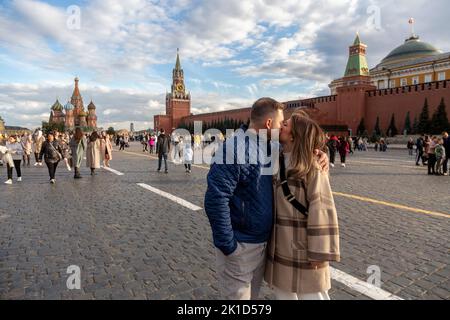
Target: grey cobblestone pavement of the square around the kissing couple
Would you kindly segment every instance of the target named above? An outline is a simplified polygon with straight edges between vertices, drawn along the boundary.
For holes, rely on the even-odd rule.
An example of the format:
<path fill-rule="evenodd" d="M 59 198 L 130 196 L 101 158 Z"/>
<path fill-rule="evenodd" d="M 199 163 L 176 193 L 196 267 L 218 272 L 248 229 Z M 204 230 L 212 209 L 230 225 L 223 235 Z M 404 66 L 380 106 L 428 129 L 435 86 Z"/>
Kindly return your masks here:
<path fill-rule="evenodd" d="M 342 261 L 333 266 L 365 281 L 380 267 L 381 288 L 403 299 L 450 298 L 450 177 L 427 176 L 407 151 L 356 153 L 332 170 Z M 207 170 L 192 174 L 156 161 L 139 145 L 114 152 L 115 175 L 74 180 L 63 166 L 24 168 L 23 182 L 0 185 L 0 299 L 218 299 L 211 230 L 192 211 L 137 183 L 203 207 Z M 0 176 L 6 169 L 0 167 Z M 412 210 L 390 206 L 403 205 Z M 430 211 L 416 212 L 414 208 Z M 68 290 L 67 267 L 81 268 Z M 369 299 L 333 281 L 332 299 Z M 273 298 L 267 287 L 262 298 Z"/>

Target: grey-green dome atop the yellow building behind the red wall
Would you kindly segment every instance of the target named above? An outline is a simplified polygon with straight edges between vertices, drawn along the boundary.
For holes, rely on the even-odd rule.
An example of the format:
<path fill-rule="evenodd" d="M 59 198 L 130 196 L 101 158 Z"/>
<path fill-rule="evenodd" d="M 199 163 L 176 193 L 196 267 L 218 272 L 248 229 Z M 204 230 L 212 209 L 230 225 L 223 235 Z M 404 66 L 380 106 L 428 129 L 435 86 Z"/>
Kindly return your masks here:
<path fill-rule="evenodd" d="M 442 53 L 429 43 L 420 41 L 419 37 L 414 36 L 406 39 L 405 43 L 392 50 L 384 58 L 380 66 L 390 65 L 398 62 L 405 62 L 417 58 L 435 56 Z"/>

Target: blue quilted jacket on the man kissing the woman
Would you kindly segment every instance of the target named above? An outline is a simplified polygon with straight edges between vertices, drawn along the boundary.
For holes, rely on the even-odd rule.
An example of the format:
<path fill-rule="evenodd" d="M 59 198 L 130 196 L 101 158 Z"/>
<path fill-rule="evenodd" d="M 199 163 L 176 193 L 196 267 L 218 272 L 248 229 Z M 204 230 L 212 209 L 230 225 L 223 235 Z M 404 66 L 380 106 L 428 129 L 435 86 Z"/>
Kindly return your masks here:
<path fill-rule="evenodd" d="M 237 242 L 266 242 L 273 223 L 272 176 L 261 174 L 262 166 L 267 165 L 259 161 L 249 164 L 249 141 L 245 143 L 245 164 L 238 164 L 237 137 L 233 140 L 234 164 L 225 164 L 224 143 L 219 149 L 221 152 L 215 156 L 216 159 L 223 157 L 224 164 L 211 166 L 205 195 L 205 211 L 211 224 L 214 245 L 225 255 L 236 250 Z"/>

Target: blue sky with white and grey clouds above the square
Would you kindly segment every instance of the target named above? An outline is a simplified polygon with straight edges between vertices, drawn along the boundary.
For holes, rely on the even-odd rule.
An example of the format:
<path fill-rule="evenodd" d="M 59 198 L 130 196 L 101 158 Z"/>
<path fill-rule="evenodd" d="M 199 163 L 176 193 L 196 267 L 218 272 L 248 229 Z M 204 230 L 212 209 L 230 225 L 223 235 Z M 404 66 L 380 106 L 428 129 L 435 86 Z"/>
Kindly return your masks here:
<path fill-rule="evenodd" d="M 163 114 L 177 48 L 194 114 L 329 95 L 356 32 L 372 68 L 415 33 L 450 51 L 448 0 L 0 0 L 0 116 L 36 128 L 80 78 L 115 129 Z"/>

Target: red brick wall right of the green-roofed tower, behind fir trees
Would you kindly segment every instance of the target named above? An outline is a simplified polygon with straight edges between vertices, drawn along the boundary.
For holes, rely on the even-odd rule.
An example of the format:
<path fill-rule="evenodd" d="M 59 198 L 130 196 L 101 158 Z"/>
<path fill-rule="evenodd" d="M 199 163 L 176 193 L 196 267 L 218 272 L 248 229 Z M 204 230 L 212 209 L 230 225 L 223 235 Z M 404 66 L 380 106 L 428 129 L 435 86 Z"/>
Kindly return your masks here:
<path fill-rule="evenodd" d="M 392 113 L 399 133 L 404 130 L 405 118 L 410 111 L 411 126 L 414 117 L 422 111 L 425 98 L 428 98 L 430 119 L 437 109 L 441 98 L 445 99 L 447 114 L 450 115 L 450 80 L 408 86 L 404 88 L 382 89 L 366 92 L 366 128 L 372 133 L 377 116 L 380 117 L 380 128 L 385 133 L 389 127 Z"/>

